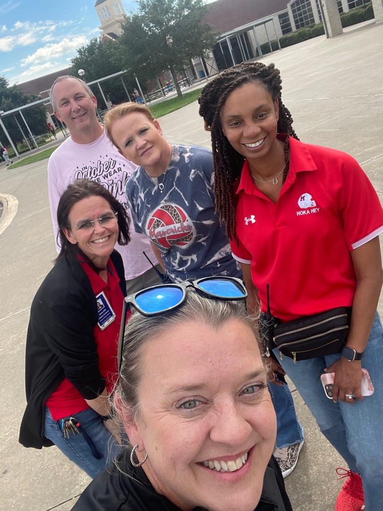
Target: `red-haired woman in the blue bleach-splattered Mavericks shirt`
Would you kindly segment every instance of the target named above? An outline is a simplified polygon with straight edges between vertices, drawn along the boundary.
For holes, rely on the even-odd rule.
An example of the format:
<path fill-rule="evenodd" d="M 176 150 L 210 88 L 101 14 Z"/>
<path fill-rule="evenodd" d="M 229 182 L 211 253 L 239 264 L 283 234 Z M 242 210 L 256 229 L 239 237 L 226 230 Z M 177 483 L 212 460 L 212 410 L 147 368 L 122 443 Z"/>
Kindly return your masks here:
<path fill-rule="evenodd" d="M 216 211 L 211 151 L 170 144 L 150 110 L 135 103 L 110 110 L 105 125 L 121 153 L 138 165 L 126 189 L 134 227 L 148 236 L 166 275 L 176 282 L 242 276 Z M 303 430 L 289 387 L 275 380 L 271 389 L 276 456 L 286 477 L 297 464 Z"/>

